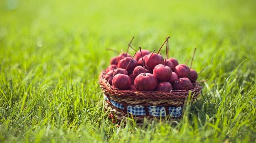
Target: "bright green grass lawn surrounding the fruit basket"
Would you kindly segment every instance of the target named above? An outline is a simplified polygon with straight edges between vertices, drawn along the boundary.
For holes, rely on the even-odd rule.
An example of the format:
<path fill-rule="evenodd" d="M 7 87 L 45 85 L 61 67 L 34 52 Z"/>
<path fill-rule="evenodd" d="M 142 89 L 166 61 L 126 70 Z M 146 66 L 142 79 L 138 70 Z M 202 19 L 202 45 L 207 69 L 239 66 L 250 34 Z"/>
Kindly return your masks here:
<path fill-rule="evenodd" d="M 255 142 L 255 1 L 0 1 L 0 142 Z M 203 94 L 179 122 L 103 112 L 106 48 L 158 49 L 204 69 Z M 164 53 L 164 49 L 162 53 Z M 130 51 L 132 54 L 133 51 Z"/>

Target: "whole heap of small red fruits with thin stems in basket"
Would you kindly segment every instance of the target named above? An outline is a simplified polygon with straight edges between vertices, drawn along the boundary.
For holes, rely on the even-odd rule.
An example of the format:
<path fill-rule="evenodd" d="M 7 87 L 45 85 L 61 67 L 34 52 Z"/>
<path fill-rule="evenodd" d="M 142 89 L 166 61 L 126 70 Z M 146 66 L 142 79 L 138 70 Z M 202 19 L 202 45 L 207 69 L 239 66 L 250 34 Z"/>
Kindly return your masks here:
<path fill-rule="evenodd" d="M 164 44 L 166 45 L 166 55 L 168 38 L 161 46 L 162 48 Z M 128 44 L 128 48 L 132 48 L 132 40 Z M 113 88 L 162 92 L 195 88 L 193 87 L 195 84 L 192 83 L 196 83 L 197 72 L 185 64 L 179 64 L 173 57 L 166 59 L 165 55 L 164 60 L 163 56 L 159 54 L 161 48 L 158 53 L 154 53 L 155 50 L 150 53 L 150 51 L 140 47 L 139 51 L 132 48 L 136 51 L 133 56 L 129 55 L 128 48 L 127 52 L 113 57 L 110 60 L 110 65 L 103 73 L 104 78 Z"/>

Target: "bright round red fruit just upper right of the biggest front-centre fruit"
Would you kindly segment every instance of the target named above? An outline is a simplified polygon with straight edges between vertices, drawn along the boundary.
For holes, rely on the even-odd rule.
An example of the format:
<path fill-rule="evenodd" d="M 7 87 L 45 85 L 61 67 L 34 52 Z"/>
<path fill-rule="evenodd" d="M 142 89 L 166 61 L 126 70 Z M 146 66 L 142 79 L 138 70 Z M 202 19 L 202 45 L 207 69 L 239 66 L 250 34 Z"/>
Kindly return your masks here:
<path fill-rule="evenodd" d="M 167 82 L 172 75 L 172 69 L 162 64 L 158 64 L 153 69 L 153 75 L 160 82 Z"/>

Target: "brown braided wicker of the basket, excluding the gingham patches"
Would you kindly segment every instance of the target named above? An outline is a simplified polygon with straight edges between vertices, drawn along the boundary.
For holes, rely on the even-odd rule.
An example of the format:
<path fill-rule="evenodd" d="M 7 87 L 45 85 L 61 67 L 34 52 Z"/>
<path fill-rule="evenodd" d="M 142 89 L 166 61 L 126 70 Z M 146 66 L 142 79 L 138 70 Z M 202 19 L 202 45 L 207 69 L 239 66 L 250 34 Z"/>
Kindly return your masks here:
<path fill-rule="evenodd" d="M 130 91 L 130 90 L 118 90 L 110 86 L 110 84 L 104 79 L 104 71 L 99 76 L 99 84 L 102 88 L 103 94 L 116 103 L 122 104 L 124 110 L 114 107 L 108 100 L 105 101 L 105 109 L 110 111 L 109 117 L 112 119 L 125 119 L 127 116 L 133 116 L 133 119 L 142 121 L 144 117 L 155 118 L 148 113 L 148 106 L 163 106 L 165 107 L 166 115 L 169 115 L 168 107 L 180 107 L 184 105 L 185 98 L 191 93 L 191 99 L 194 100 L 200 94 L 200 88 L 193 88 L 188 91 L 171 91 L 171 92 L 159 92 L 159 91 Z M 195 84 L 195 87 L 200 87 L 199 84 Z M 146 115 L 132 115 L 127 112 L 127 106 L 144 106 Z M 127 115 L 129 114 L 129 115 Z"/>

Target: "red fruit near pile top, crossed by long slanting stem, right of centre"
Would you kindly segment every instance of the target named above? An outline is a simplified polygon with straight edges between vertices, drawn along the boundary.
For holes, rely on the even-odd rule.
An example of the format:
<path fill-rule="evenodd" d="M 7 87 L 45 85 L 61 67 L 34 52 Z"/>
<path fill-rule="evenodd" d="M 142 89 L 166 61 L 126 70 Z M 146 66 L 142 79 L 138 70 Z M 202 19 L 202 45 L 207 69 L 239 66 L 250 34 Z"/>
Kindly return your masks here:
<path fill-rule="evenodd" d="M 150 69 L 150 70 L 153 70 L 154 67 L 158 64 L 164 64 L 165 63 L 165 61 L 163 60 L 162 55 L 159 55 L 157 53 L 153 53 L 151 58 L 150 59 L 149 58 L 150 58 L 150 56 L 146 56 L 145 61 L 146 61 L 146 64 L 147 64 L 146 65 L 147 69 Z"/>

